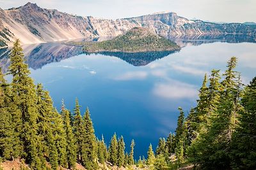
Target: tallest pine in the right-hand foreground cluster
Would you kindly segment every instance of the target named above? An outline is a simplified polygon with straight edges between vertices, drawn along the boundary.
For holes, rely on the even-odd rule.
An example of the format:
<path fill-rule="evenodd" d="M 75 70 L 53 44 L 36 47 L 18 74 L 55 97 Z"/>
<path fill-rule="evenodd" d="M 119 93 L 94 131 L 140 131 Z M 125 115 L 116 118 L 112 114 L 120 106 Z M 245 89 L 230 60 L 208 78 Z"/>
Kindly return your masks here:
<path fill-rule="evenodd" d="M 242 109 L 240 99 L 242 95 L 241 80 L 239 74 L 233 71 L 236 66 L 236 58 L 228 61 L 228 69 L 225 71 L 225 79 L 221 83 L 220 104 L 212 117 L 211 129 L 205 136 L 207 146 L 202 159 L 202 166 L 218 169 L 230 167 L 230 142 L 232 134 L 237 127 L 237 112 Z M 208 157 L 207 157 L 208 155 Z M 209 156 L 211 155 L 211 156 Z"/>

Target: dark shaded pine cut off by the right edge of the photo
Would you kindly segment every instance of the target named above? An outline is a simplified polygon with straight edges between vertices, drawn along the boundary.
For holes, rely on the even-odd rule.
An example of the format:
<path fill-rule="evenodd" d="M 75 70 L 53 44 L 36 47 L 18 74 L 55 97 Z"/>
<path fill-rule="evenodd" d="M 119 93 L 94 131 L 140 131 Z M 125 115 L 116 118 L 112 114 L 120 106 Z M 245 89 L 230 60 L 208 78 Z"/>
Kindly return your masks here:
<path fill-rule="evenodd" d="M 240 124 L 232 136 L 233 169 L 256 169 L 256 77 L 246 86 L 241 100 Z"/>

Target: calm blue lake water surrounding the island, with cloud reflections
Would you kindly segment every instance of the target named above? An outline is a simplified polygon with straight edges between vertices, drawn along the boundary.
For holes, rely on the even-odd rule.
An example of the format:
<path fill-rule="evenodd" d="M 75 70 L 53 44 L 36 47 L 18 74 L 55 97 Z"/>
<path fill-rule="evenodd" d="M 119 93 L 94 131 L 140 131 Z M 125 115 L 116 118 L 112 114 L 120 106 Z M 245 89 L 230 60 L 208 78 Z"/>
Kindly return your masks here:
<path fill-rule="evenodd" d="M 246 84 L 256 76 L 256 43 L 186 43 L 175 53 L 99 53 L 58 43 L 24 46 L 31 76 L 49 90 L 60 110 L 64 99 L 73 110 L 79 99 L 90 109 L 95 133 L 124 136 L 127 151 L 135 140 L 135 155 L 156 149 L 158 139 L 174 132 L 178 107 L 186 114 L 195 106 L 198 89 L 211 69 L 225 71 L 227 60 L 238 57 L 237 71 Z M 3 51 L 3 49 L 2 49 Z M 0 62 L 6 70 L 7 57 Z M 149 57 L 148 57 L 149 56 Z M 10 77 L 7 77 L 10 80 Z"/>

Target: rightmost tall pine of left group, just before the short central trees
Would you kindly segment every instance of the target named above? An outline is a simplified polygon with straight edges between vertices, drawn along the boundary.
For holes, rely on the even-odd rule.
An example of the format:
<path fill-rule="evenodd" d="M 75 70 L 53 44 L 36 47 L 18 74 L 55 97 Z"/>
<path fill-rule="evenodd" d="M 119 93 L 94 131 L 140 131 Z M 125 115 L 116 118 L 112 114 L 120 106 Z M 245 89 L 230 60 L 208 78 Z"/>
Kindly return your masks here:
<path fill-rule="evenodd" d="M 97 143 L 93 129 L 92 119 L 90 118 L 90 111 L 86 108 L 86 112 L 83 117 L 84 120 L 84 143 L 83 148 L 85 152 L 82 152 L 83 166 L 86 169 L 97 169 Z"/>

